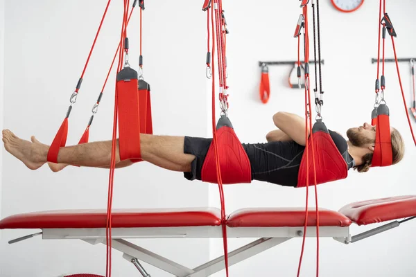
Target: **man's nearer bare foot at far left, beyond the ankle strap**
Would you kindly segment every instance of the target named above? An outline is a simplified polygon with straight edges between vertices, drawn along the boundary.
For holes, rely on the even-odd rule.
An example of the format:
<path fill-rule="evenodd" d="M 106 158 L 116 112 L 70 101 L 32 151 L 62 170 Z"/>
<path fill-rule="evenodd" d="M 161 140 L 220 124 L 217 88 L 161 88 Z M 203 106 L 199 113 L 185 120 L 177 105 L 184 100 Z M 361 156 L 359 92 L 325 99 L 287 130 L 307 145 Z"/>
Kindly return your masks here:
<path fill-rule="evenodd" d="M 22 161 L 31 170 L 36 170 L 46 162 L 49 147 L 37 141 L 34 136 L 32 141 L 19 139 L 10 130 L 3 130 L 3 143 L 6 151 Z"/>

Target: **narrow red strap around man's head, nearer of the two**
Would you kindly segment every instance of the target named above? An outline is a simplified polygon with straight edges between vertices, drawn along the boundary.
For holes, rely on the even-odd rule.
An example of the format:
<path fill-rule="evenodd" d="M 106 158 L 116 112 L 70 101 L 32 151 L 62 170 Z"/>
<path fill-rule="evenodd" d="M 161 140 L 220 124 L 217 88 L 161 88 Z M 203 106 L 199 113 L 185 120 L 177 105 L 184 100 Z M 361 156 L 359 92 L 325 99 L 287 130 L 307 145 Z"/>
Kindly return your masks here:
<path fill-rule="evenodd" d="M 381 104 L 377 109 L 376 143 L 372 157 L 372 167 L 392 165 L 392 140 L 390 119 L 387 105 Z"/>

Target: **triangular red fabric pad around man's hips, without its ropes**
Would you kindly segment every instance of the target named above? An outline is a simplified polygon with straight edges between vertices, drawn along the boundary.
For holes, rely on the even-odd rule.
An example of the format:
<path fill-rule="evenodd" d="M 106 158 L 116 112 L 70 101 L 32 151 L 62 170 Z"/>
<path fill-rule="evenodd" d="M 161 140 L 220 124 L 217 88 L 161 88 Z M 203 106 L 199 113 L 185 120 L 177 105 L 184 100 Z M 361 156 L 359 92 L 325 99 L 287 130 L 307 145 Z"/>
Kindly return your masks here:
<path fill-rule="evenodd" d="M 217 132 L 218 159 L 223 184 L 251 183 L 251 166 L 247 153 L 231 127 L 220 127 Z M 217 184 L 214 141 L 209 146 L 201 172 L 202 181 Z"/>

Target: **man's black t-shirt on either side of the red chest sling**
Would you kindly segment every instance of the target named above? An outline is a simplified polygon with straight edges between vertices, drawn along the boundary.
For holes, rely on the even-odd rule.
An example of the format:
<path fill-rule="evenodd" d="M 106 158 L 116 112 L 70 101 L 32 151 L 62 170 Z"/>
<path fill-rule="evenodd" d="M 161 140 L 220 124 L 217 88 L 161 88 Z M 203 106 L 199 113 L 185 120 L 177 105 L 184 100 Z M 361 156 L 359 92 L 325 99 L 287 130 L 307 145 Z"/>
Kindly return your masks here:
<path fill-rule="evenodd" d="M 329 130 L 329 134 L 348 170 L 354 167 L 354 159 L 348 153 L 347 141 L 340 134 Z M 281 186 L 297 186 L 297 175 L 305 147 L 295 141 L 270 143 L 243 143 L 252 169 L 252 179 Z"/>

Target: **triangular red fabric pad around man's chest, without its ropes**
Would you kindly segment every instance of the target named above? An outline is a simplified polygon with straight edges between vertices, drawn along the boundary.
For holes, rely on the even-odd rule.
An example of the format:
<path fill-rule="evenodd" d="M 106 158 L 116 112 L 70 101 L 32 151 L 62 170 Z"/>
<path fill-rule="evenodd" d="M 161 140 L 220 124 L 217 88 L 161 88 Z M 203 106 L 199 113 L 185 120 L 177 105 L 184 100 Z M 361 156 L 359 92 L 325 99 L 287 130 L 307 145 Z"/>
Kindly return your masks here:
<path fill-rule="evenodd" d="M 345 179 L 347 177 L 347 163 L 327 132 L 314 132 L 313 145 L 309 137 L 309 157 L 312 157 L 312 147 L 315 148 L 316 184 L 324 184 L 330 181 Z M 306 167 L 309 167 L 309 172 L 313 172 L 313 159 L 309 158 L 309 164 L 306 164 L 305 150 L 300 163 L 299 175 L 297 176 L 297 188 L 306 186 L 306 178 L 309 178 L 309 186 L 315 184 L 313 174 L 306 176 Z"/>

